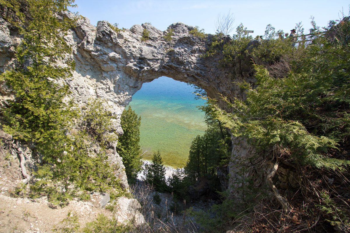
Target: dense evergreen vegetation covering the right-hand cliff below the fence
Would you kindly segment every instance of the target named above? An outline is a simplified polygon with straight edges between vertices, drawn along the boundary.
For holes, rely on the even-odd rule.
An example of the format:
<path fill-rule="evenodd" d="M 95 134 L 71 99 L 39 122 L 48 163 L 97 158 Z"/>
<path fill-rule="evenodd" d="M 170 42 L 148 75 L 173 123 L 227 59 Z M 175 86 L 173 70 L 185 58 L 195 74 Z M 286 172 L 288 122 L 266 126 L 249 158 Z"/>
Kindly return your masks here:
<path fill-rule="evenodd" d="M 209 99 L 211 115 L 255 147 L 248 160 L 232 155 L 240 195 L 224 195 L 217 221 L 200 214 L 210 231 L 228 224 L 230 232 L 350 231 L 350 20 L 311 24 L 307 46 L 271 27 L 269 38 L 253 41 L 239 26 L 232 41 L 217 36 L 207 52 L 221 54 L 227 70 L 251 59 L 256 79 L 237 83 L 244 98 L 222 97 L 226 111 Z M 264 174 L 265 188 L 250 169 Z"/>

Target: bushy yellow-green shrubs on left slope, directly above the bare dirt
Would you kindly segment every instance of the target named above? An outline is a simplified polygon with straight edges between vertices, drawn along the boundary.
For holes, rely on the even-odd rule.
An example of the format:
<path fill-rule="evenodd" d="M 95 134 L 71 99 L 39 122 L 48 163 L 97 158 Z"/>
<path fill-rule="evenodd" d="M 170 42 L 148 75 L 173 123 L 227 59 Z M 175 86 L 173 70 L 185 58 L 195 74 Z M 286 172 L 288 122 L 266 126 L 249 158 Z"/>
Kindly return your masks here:
<path fill-rule="evenodd" d="M 82 130 L 59 138 L 62 141 L 57 142 L 60 151 L 56 148 L 56 155 L 43 153 L 42 164 L 33 173 L 39 180 L 31 185 L 31 196 L 47 195 L 53 204 L 65 205 L 79 190 L 107 191 L 111 195 L 121 192 L 119 180 L 114 175 L 118 168 L 108 163 L 105 152 L 108 140 L 115 139 L 103 134 L 110 130 L 110 113 L 103 110 L 102 102 L 97 100 L 90 101 L 83 109 L 85 113 L 79 123 Z M 91 155 L 89 148 L 93 143 L 100 148 Z"/>

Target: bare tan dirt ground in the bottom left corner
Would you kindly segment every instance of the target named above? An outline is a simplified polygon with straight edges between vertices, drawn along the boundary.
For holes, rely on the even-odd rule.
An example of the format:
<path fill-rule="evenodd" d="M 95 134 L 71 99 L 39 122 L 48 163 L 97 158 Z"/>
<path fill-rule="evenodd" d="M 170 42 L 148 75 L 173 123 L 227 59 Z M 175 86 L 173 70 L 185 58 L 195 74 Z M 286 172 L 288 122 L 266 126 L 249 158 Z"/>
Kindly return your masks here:
<path fill-rule="evenodd" d="M 52 232 L 69 211 L 76 212 L 80 226 L 96 218 L 98 213 L 111 212 L 96 208 L 90 202 L 71 201 L 68 206 L 52 209 L 45 197 L 30 200 L 0 194 L 0 232 L 43 233 Z"/>

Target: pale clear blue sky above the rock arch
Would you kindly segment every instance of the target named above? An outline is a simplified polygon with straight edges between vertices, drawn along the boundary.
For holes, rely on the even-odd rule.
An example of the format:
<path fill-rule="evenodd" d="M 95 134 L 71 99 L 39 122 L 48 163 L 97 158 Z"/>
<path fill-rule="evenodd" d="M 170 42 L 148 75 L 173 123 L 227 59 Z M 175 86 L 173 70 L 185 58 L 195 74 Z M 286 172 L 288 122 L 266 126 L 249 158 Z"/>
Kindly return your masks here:
<path fill-rule="evenodd" d="M 310 16 L 318 26 L 326 26 L 329 20 L 337 20 L 343 11 L 349 14 L 349 0 L 76 0 L 78 8 L 72 11 L 90 19 L 95 25 L 100 20 L 118 23 L 119 28 L 134 24 L 152 23 L 164 31 L 175 22 L 204 28 L 206 33 L 215 33 L 218 14 L 231 11 L 235 26 L 243 23 L 253 36 L 264 35 L 266 25 L 285 32 L 302 21 L 306 31 L 310 28 Z M 235 27 L 236 28 L 236 27 Z M 233 32 L 231 33 L 231 35 Z"/>

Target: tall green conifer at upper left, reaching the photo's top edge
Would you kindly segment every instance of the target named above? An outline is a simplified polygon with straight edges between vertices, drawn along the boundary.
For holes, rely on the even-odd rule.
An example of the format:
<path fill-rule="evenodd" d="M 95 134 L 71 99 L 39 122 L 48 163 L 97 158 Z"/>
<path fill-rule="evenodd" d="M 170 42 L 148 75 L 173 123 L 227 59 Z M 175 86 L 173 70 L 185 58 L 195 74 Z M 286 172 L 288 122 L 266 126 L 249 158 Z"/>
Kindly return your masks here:
<path fill-rule="evenodd" d="M 73 61 L 66 60 L 65 54 L 71 49 L 62 37 L 73 21 L 58 20 L 53 14 L 67 10 L 71 1 L 28 2 L 26 15 L 17 8 L 18 1 L 12 4 L 14 7 L 10 9 L 18 21 L 10 22 L 18 28 L 22 40 L 16 48 L 19 65 L 0 77 L 16 96 L 2 111 L 6 121 L 4 130 L 15 139 L 42 143 L 52 135 L 64 133 L 69 119 L 75 116 L 63 102 L 68 87 L 55 82 L 68 77 L 74 67 Z M 55 65 L 55 60 L 63 59 L 66 66 Z"/>

